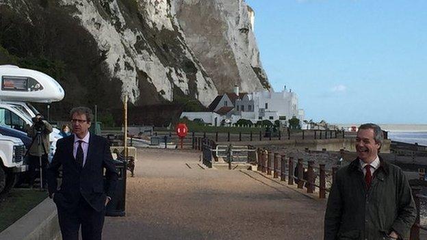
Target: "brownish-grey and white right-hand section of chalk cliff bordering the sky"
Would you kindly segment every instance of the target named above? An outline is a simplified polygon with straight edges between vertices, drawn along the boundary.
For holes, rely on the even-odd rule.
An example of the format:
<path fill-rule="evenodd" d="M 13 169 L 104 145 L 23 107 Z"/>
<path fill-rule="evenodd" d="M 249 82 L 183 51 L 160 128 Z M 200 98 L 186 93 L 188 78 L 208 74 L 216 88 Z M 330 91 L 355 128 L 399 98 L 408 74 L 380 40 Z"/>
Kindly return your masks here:
<path fill-rule="evenodd" d="M 244 0 L 176 0 L 174 12 L 194 51 L 218 92 L 230 92 L 235 84 L 244 92 L 268 90 Z M 195 14 L 196 13 L 196 14 Z"/>

